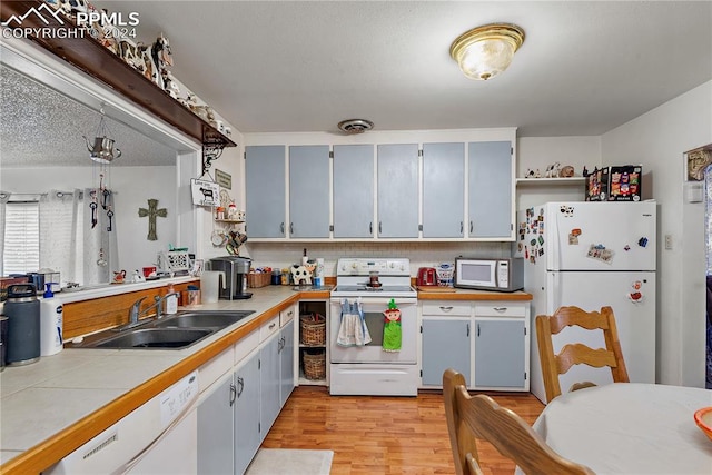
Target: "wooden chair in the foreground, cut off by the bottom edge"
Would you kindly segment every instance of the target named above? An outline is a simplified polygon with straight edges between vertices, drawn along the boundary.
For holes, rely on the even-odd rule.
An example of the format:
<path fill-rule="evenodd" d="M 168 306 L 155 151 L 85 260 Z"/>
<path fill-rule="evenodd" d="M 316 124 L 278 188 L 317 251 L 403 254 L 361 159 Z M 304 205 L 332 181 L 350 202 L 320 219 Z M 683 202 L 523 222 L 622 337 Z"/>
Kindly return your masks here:
<path fill-rule="evenodd" d="M 464 376 L 454 369 L 446 369 L 443 374 L 443 397 L 457 475 L 483 473 L 476 437 L 491 443 L 525 474 L 593 474 L 584 465 L 567 461 L 552 451 L 514 412 L 501 407 L 490 396 L 471 396 Z"/>

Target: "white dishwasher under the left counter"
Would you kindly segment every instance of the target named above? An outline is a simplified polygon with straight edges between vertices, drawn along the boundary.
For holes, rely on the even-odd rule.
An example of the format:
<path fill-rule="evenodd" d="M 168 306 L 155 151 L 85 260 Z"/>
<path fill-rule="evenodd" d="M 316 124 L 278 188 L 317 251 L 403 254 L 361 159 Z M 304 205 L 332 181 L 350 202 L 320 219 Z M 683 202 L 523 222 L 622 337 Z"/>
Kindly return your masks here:
<path fill-rule="evenodd" d="M 197 474 L 198 392 L 194 372 L 43 474 Z"/>

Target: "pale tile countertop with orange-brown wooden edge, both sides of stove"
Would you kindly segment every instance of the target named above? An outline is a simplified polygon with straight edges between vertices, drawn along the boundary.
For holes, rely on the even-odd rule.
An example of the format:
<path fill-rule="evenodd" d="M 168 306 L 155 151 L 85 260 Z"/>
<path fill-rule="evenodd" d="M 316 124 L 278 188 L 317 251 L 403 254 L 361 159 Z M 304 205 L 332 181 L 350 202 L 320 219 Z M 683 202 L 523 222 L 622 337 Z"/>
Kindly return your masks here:
<path fill-rule="evenodd" d="M 525 293 L 451 289 L 422 299 L 531 300 Z M 149 400 L 299 299 L 329 293 L 291 286 L 253 288 L 247 300 L 190 310 L 255 313 L 186 349 L 72 349 L 0 373 L 0 473 L 38 473 Z"/>

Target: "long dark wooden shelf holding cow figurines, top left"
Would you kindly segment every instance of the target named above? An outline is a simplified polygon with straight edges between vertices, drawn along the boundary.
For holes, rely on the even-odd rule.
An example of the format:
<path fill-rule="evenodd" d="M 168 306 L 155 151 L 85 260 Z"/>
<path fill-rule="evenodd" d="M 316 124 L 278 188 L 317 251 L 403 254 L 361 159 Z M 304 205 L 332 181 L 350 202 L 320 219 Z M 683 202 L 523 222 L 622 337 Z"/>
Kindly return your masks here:
<path fill-rule="evenodd" d="M 8 21 L 12 16 L 21 18 L 30 9 L 38 9 L 40 6 L 47 6 L 47 3 L 41 0 L 3 1 L 0 3 L 0 18 L 2 22 Z M 198 142 L 219 149 L 237 146 L 209 122 L 196 116 L 150 79 L 101 46 L 89 34 L 89 31 L 86 31 L 83 38 L 77 38 L 71 33 L 80 27 L 76 27 L 68 18 L 62 17 L 63 21 L 60 23 L 49 14 L 44 17 L 49 24 L 44 24 L 38 16 L 29 14 L 22 20 L 21 26 L 18 24 L 14 28 L 55 30 L 55 34 L 31 36 L 29 39 Z"/>

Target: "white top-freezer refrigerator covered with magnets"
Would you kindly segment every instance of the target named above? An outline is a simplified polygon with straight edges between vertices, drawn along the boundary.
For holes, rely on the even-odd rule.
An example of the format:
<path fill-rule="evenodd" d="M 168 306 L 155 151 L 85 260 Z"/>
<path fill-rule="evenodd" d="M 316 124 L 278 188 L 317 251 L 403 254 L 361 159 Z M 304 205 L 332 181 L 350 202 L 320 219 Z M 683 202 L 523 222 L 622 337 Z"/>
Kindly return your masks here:
<path fill-rule="evenodd" d="M 518 211 L 514 255 L 525 258 L 524 290 L 533 295 L 530 388 L 543 403 L 534 319 L 561 306 L 611 306 L 631 382 L 655 382 L 655 232 L 654 201 L 547 202 Z M 566 328 L 554 336 L 554 350 L 571 342 L 605 347 L 600 334 Z M 560 380 L 567 392 L 576 382 L 613 379 L 609 368 L 576 365 Z"/>

